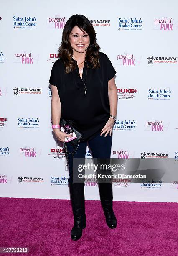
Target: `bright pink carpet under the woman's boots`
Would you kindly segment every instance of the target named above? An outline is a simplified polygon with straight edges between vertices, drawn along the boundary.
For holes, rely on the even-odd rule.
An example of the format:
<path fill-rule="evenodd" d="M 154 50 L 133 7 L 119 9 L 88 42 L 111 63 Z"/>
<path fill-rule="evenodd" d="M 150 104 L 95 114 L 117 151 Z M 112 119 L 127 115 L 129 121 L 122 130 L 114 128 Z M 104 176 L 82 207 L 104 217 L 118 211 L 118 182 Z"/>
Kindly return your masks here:
<path fill-rule="evenodd" d="M 113 202 L 117 228 L 107 227 L 99 201 L 86 201 L 86 228 L 72 241 L 69 200 L 0 198 L 0 247 L 28 247 L 31 256 L 176 256 L 178 203 Z"/>

